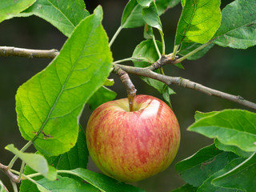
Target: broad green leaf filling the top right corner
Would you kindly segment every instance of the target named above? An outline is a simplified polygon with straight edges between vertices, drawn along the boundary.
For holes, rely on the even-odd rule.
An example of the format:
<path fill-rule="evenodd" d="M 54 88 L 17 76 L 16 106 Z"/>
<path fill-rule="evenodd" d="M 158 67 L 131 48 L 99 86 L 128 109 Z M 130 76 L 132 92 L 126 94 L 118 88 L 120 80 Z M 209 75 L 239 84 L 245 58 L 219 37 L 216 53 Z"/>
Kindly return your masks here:
<path fill-rule="evenodd" d="M 254 0 L 236 0 L 227 5 L 222 10 L 222 25 L 214 35 L 214 43 L 236 49 L 255 46 L 255 10 Z"/>

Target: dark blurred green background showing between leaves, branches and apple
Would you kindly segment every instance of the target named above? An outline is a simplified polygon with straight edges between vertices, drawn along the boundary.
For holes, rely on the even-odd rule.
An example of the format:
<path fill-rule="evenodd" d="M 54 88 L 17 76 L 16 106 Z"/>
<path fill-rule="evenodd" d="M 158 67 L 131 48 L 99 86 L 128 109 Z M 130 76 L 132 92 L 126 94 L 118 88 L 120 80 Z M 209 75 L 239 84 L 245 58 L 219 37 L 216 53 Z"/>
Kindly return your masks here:
<path fill-rule="evenodd" d="M 112 38 L 120 25 L 122 10 L 127 1 L 101 0 L 85 2 L 90 13 L 93 12 L 98 4 L 102 5 L 104 11 L 103 26 L 106 29 L 106 33 Z M 225 1 L 225 3 L 228 2 L 232 1 Z M 168 10 L 161 17 L 167 54 L 173 49 L 175 29 L 181 11 L 182 7 L 178 5 L 174 9 Z M 130 57 L 135 46 L 143 40 L 142 34 L 142 28 L 122 30 L 111 47 L 114 60 Z M 13 18 L 0 23 L 0 46 L 44 50 L 54 48 L 60 50 L 65 41 L 66 37 L 55 29 L 54 26 L 34 16 L 30 18 Z M 187 78 L 216 90 L 222 90 L 223 92 L 235 95 L 239 94 L 251 102 L 256 102 L 255 50 L 255 47 L 247 50 L 233 50 L 214 46 L 209 53 L 198 61 L 183 62 L 185 70 L 180 70 L 174 66 L 165 66 L 164 70 L 167 75 Z M 0 162 L 5 165 L 10 162 L 13 155 L 9 151 L 4 150 L 4 147 L 7 144 L 14 143 L 15 146 L 21 148 L 26 143 L 21 137 L 16 121 L 16 90 L 18 86 L 44 69 L 49 63 L 50 59 L 44 58 L 0 58 Z M 126 64 L 131 65 L 129 62 Z M 115 84 L 111 89 L 118 93 L 118 98 L 126 97 L 126 90 L 119 78 L 115 74 L 110 76 L 115 80 Z M 147 86 L 137 76 L 130 75 L 130 78 L 134 82 L 138 94 L 150 94 L 162 98 L 156 90 Z M 142 182 L 134 183 L 135 186 L 139 186 L 146 191 L 165 192 L 181 186 L 183 182 L 182 178 L 174 170 L 175 162 L 189 157 L 202 146 L 212 142 L 210 139 L 186 130 L 194 122 L 194 112 L 196 110 L 203 112 L 227 108 L 250 110 L 234 102 L 209 97 L 195 90 L 188 90 L 178 86 L 171 86 L 171 88 L 177 93 L 171 96 L 171 102 L 181 128 L 181 145 L 174 163 L 167 170 Z M 86 128 L 86 122 L 90 113 L 91 111 L 86 106 L 81 118 L 84 129 Z M 19 162 L 15 166 L 16 168 L 19 167 Z M 91 161 L 89 169 L 98 171 Z M 11 189 L 10 182 L 4 174 L 0 173 L 0 179 Z"/>

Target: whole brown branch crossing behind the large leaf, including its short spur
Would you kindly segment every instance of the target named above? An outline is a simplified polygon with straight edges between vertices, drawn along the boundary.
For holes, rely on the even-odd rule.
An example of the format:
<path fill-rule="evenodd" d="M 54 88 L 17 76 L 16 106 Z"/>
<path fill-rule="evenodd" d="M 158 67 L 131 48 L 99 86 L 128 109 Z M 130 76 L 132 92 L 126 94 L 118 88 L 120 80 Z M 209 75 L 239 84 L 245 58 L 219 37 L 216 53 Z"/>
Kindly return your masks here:
<path fill-rule="evenodd" d="M 209 42 L 210 43 L 210 42 Z M 207 43 L 206 43 L 207 44 Z M 28 50 L 15 47 L 0 46 L 0 56 L 20 56 L 26 58 L 38 57 L 38 58 L 55 58 L 58 55 L 57 50 Z M 113 66 L 126 71 L 128 74 L 137 74 L 148 78 L 154 78 L 160 82 L 166 83 L 166 85 L 178 85 L 192 90 L 198 90 L 207 95 L 214 95 L 219 98 L 224 98 L 226 100 L 237 102 L 242 106 L 250 107 L 251 109 L 256 110 L 256 104 L 254 102 L 249 102 L 246 99 L 242 98 L 240 95 L 235 96 L 232 94 L 226 94 L 222 91 L 214 90 L 206 86 L 202 86 L 197 82 L 191 82 L 185 78 L 179 77 L 170 77 L 162 74 L 155 73 L 153 70 L 166 65 L 166 64 L 175 64 L 180 62 L 178 59 L 173 58 L 173 55 L 162 55 L 162 58 L 158 59 L 157 62 L 153 63 L 151 66 L 146 68 L 134 67 L 134 66 L 122 66 L 113 63 Z M 127 74 L 127 76 L 128 76 Z M 129 76 L 128 76 L 129 78 Z M 130 78 L 129 78 L 130 79 Z"/>

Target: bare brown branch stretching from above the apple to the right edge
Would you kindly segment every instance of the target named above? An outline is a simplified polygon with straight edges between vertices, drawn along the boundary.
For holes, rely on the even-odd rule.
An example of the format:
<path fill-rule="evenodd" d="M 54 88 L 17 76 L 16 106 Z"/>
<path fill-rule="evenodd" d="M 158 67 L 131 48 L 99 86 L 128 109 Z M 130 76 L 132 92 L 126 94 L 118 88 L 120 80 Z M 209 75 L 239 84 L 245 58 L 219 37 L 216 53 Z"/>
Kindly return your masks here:
<path fill-rule="evenodd" d="M 249 102 L 246 99 L 242 98 L 240 95 L 235 96 L 232 94 L 226 94 L 222 91 L 218 91 L 206 86 L 202 86 L 197 82 L 191 82 L 190 80 L 185 78 L 170 77 L 170 76 L 158 74 L 150 70 L 150 67 L 141 68 L 141 67 L 134 67 L 134 66 L 122 66 L 119 64 L 114 64 L 114 66 L 120 67 L 122 70 L 125 70 L 129 74 L 137 74 L 137 75 L 141 75 L 148 78 L 154 78 L 160 82 L 166 83 L 166 85 L 174 84 L 174 85 L 182 86 L 192 90 L 198 90 L 204 94 L 208 94 L 210 96 L 214 95 L 218 98 L 225 98 L 226 100 L 237 102 L 242 106 L 247 106 L 247 107 L 250 107 L 251 109 L 256 110 L 256 104 L 254 102 Z"/>

